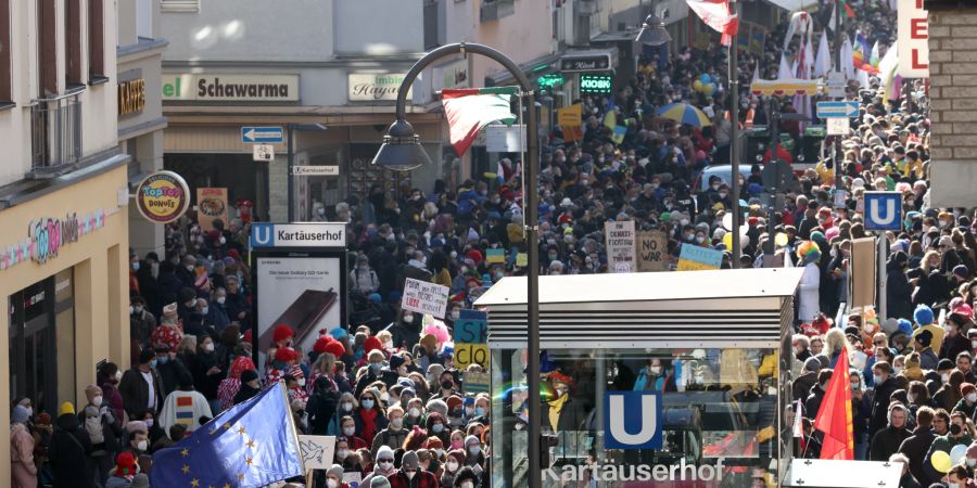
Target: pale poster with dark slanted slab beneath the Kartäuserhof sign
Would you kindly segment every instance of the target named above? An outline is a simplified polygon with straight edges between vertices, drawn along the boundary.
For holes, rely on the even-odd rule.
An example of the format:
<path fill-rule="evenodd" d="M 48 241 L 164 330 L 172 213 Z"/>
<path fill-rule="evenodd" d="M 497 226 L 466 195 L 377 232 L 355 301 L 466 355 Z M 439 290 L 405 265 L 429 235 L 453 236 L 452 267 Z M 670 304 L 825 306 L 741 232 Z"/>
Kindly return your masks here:
<path fill-rule="evenodd" d="M 292 347 L 306 355 L 320 330 L 343 325 L 343 258 L 334 256 L 258 256 L 257 284 L 258 367 L 271 345 L 275 328 L 284 324 L 295 331 Z"/>

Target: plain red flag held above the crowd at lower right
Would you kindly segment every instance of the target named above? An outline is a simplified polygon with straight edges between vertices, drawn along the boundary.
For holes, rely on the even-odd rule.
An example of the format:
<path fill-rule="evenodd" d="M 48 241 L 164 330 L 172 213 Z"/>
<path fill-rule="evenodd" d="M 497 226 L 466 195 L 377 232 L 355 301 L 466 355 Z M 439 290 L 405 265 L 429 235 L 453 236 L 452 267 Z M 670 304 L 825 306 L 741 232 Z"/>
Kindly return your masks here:
<path fill-rule="evenodd" d="M 848 348 L 843 348 L 814 419 L 814 428 L 824 433 L 821 459 L 854 459 L 850 381 Z"/>

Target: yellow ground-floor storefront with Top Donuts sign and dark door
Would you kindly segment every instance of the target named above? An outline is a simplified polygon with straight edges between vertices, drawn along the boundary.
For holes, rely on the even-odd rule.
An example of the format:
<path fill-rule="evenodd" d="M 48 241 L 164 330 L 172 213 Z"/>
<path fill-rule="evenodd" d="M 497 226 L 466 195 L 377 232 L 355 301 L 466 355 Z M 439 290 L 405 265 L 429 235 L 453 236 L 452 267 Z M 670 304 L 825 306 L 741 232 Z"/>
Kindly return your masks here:
<path fill-rule="evenodd" d="M 52 415 L 85 400 L 96 364 L 128 364 L 128 192 L 117 155 L 55 190 L 0 210 L 0 314 L 10 378 L 0 398 L 31 398 Z"/>

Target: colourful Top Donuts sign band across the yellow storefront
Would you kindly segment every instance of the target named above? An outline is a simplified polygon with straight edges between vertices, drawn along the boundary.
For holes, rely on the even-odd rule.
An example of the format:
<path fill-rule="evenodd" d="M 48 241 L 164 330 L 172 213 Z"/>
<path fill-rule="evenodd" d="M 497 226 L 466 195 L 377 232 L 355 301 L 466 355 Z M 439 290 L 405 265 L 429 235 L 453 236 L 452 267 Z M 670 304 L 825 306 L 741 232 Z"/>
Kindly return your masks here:
<path fill-rule="evenodd" d="M 30 222 L 27 237 L 0 248 L 0 270 L 33 260 L 43 265 L 58 257 L 61 248 L 78 242 L 83 235 L 105 227 L 105 210 L 78 216 L 68 214 L 64 218 L 40 218 Z"/>

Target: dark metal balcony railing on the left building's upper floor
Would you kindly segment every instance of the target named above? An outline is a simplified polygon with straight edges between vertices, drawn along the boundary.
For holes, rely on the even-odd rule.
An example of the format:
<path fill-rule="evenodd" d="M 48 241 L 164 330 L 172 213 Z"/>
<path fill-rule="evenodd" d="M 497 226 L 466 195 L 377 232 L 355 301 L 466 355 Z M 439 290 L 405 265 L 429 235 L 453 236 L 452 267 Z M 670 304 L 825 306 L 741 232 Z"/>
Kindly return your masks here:
<path fill-rule="evenodd" d="M 81 101 L 78 92 L 35 100 L 30 107 L 30 171 L 27 178 L 54 178 L 81 157 Z"/>

